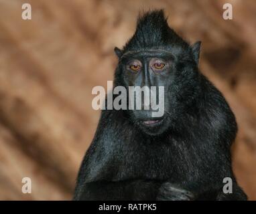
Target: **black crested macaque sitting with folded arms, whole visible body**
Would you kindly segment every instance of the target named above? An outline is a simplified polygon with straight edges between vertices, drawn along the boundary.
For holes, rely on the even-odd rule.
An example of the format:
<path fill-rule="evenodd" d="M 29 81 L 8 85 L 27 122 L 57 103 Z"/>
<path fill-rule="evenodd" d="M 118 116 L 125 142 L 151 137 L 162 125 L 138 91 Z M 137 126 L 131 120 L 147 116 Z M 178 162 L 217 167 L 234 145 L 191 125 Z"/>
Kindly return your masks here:
<path fill-rule="evenodd" d="M 164 86 L 164 115 L 103 110 L 74 200 L 246 200 L 231 167 L 235 116 L 198 70 L 200 42 L 189 45 L 164 11 L 149 11 L 115 53 L 114 87 Z M 222 191 L 225 177 L 233 193 Z"/>

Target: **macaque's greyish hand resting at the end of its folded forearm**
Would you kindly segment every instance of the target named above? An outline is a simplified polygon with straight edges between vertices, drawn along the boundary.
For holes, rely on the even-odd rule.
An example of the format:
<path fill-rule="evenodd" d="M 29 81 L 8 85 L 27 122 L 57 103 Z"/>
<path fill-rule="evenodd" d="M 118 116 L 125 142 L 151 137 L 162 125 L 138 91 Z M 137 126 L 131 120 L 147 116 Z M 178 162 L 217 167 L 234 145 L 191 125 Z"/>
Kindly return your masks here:
<path fill-rule="evenodd" d="M 181 189 L 177 185 L 166 182 L 159 187 L 157 201 L 192 201 L 194 195 L 190 191 Z"/>

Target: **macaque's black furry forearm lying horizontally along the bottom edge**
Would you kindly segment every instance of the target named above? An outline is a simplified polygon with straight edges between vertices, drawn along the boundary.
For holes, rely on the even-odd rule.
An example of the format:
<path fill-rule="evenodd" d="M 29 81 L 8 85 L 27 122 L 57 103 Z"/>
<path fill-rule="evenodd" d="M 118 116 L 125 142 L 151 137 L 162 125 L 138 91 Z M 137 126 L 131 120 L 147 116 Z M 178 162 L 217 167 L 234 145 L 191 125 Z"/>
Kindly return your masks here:
<path fill-rule="evenodd" d="M 156 181 L 97 181 L 86 183 L 74 200 L 155 200 L 159 186 Z"/>

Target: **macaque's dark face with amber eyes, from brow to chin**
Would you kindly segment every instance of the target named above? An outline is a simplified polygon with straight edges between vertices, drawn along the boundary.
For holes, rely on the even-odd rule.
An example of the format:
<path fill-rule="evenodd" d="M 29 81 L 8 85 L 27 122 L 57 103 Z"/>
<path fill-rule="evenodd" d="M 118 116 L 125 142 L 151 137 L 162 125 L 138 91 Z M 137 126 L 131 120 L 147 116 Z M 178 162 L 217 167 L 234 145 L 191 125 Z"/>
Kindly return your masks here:
<path fill-rule="evenodd" d="M 164 49 L 128 51 L 122 56 L 118 76 L 129 94 L 130 110 L 127 112 L 134 124 L 146 134 L 162 134 L 182 116 L 190 100 L 189 91 L 193 90 L 193 70 L 188 72 L 191 68 L 189 62 Z M 131 86 L 135 90 L 129 90 Z M 141 109 L 137 108 L 137 101 L 141 102 Z M 131 110 L 132 106 L 134 109 Z"/>

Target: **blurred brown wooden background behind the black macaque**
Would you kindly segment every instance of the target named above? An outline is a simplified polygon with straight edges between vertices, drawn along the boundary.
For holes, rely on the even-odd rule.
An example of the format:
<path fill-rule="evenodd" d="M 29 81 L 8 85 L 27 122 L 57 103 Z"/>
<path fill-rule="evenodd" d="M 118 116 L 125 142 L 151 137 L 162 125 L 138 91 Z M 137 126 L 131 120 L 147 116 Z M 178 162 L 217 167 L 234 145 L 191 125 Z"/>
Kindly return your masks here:
<path fill-rule="evenodd" d="M 21 19 L 30 3 L 32 20 Z M 0 0 L 0 199 L 71 199 L 99 112 L 91 90 L 107 86 L 139 11 L 164 8 L 188 41 L 202 40 L 202 72 L 239 123 L 233 165 L 256 200 L 256 1 Z M 32 193 L 21 193 L 30 177 Z"/>

